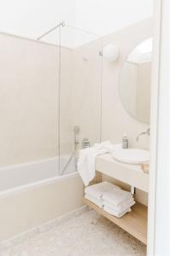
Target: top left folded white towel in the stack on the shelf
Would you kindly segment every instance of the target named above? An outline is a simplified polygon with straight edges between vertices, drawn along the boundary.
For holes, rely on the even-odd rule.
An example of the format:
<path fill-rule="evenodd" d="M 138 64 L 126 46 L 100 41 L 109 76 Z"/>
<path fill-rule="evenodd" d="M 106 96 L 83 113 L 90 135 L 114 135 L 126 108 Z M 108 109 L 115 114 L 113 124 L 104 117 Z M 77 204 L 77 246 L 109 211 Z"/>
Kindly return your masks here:
<path fill-rule="evenodd" d="M 88 195 L 92 195 L 97 199 L 101 199 L 102 195 L 104 195 L 106 191 L 112 191 L 112 189 L 121 189 L 121 188 L 119 188 L 118 186 L 112 183 L 103 182 L 103 183 L 98 183 L 98 184 L 88 186 L 84 189 L 84 191 Z"/>

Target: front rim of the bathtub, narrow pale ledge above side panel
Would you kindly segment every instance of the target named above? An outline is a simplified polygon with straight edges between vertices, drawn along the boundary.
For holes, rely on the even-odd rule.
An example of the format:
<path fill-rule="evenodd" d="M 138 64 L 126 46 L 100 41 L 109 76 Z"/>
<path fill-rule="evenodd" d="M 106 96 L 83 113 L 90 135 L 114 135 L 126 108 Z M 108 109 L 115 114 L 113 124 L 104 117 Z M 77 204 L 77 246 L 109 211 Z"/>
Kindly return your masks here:
<path fill-rule="evenodd" d="M 0 199 L 11 196 L 11 195 L 17 195 L 17 194 L 20 194 L 20 192 L 26 192 L 30 189 L 37 189 L 44 185 L 61 182 L 61 181 L 64 181 L 66 178 L 78 177 L 78 176 L 79 176 L 78 172 L 71 172 L 62 176 L 49 177 L 47 179 L 42 179 L 35 183 L 28 183 L 25 185 L 14 187 L 12 189 L 5 189 L 3 191 L 0 191 Z"/>

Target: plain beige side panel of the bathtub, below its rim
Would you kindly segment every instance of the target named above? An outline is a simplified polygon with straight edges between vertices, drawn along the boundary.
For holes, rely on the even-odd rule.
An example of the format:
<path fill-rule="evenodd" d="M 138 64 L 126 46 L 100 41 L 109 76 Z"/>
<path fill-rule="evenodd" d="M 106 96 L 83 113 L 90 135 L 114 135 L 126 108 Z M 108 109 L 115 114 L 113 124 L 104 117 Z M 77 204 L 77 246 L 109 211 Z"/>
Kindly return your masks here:
<path fill-rule="evenodd" d="M 1 198 L 0 241 L 81 207 L 82 193 L 77 175 Z"/>

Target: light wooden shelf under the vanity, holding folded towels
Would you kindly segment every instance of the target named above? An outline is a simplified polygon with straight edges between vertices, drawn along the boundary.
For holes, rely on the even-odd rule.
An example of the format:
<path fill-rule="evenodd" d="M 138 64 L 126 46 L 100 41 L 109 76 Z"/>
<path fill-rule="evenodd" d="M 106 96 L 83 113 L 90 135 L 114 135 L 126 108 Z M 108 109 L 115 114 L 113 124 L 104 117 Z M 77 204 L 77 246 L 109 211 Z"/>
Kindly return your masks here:
<path fill-rule="evenodd" d="M 100 209 L 93 202 L 83 198 L 83 203 L 93 208 L 99 214 L 109 218 L 113 223 L 126 230 L 129 234 L 136 237 L 139 241 L 147 244 L 147 207 L 138 202 L 132 207 L 132 212 L 127 212 L 122 218 L 116 218 L 111 214 Z"/>

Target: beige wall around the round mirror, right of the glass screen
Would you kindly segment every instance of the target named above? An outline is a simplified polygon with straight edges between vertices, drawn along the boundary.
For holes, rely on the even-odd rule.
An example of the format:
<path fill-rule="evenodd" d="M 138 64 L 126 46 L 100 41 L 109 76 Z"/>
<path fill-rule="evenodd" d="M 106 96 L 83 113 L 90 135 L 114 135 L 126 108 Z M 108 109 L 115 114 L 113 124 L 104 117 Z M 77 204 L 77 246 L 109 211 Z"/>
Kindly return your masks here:
<path fill-rule="evenodd" d="M 121 51 L 118 61 L 109 63 L 104 61 L 103 67 L 103 92 L 102 92 L 102 140 L 110 140 L 112 143 L 122 142 L 122 135 L 127 133 L 129 147 L 149 148 L 150 138 L 140 137 L 136 143 L 136 136 L 145 131 L 149 125 L 133 119 L 122 107 L 119 96 L 119 81 L 122 65 L 129 53 L 144 39 L 150 38 L 153 33 L 152 20 L 144 20 L 139 23 L 127 26 L 119 32 L 105 37 L 104 45 L 116 44 Z M 129 189 L 125 184 L 122 187 Z M 147 194 L 138 190 L 136 199 L 147 204 Z"/>

